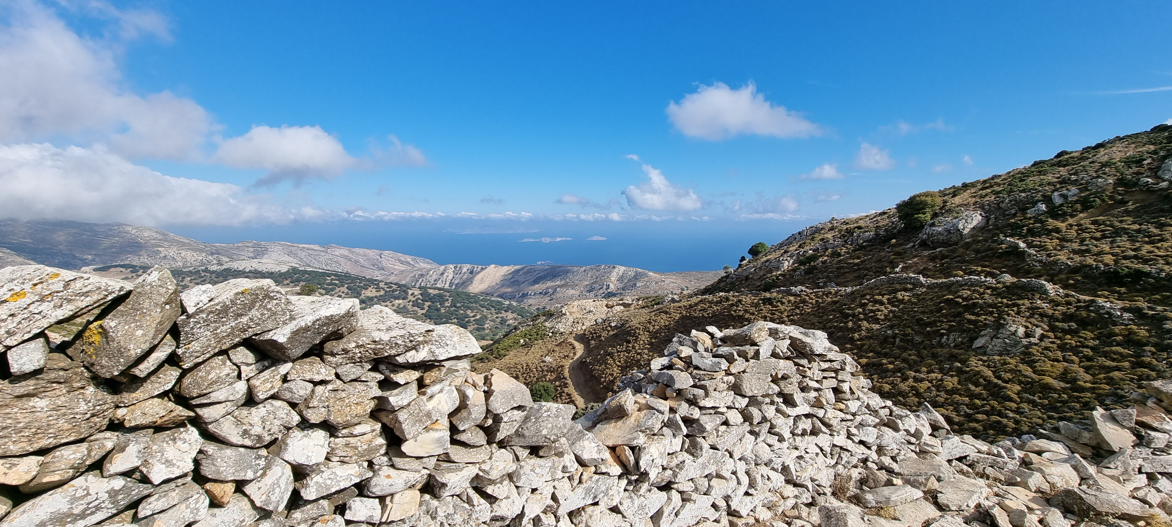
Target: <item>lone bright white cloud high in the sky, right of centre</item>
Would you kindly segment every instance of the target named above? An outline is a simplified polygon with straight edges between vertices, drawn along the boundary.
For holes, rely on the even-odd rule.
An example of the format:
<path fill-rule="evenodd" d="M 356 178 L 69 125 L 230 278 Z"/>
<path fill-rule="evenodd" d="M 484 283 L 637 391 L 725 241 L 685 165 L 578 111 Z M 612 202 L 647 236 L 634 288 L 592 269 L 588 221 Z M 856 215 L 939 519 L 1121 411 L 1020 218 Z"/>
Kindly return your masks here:
<path fill-rule="evenodd" d="M 723 82 L 703 85 L 667 105 L 668 121 L 683 135 L 720 141 L 738 135 L 810 137 L 822 129 L 800 114 L 765 101 L 752 82 L 731 89 Z"/>

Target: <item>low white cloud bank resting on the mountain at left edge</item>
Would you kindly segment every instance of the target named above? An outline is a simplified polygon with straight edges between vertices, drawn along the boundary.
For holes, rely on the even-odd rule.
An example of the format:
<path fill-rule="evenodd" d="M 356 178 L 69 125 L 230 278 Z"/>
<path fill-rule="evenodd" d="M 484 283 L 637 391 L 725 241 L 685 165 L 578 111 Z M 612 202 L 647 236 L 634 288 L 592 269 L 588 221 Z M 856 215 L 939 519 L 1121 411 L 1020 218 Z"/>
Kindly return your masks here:
<path fill-rule="evenodd" d="M 135 225 L 246 225 L 318 220 L 237 185 L 164 176 L 102 146 L 0 145 L 5 215 Z"/>

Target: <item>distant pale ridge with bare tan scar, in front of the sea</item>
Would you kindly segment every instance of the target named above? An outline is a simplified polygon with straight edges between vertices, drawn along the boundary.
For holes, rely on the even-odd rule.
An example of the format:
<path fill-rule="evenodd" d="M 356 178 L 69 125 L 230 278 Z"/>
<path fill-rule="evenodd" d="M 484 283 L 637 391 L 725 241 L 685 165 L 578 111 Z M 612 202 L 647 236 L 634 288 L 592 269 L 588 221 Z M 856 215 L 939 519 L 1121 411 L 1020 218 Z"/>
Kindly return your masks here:
<path fill-rule="evenodd" d="M 560 306 L 619 294 L 677 295 L 704 287 L 718 276 L 721 273 L 715 271 L 656 273 L 624 266 L 447 265 L 404 271 L 393 280 L 483 293 L 531 306 Z"/>

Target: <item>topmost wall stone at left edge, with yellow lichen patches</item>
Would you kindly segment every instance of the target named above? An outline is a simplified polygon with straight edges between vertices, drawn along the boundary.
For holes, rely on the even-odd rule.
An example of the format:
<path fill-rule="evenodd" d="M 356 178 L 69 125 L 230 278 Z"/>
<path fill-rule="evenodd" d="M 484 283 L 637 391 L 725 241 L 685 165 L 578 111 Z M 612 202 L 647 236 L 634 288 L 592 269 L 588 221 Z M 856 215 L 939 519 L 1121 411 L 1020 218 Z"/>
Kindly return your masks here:
<path fill-rule="evenodd" d="M 122 280 L 46 266 L 0 269 L 0 345 L 16 345 L 130 289 Z"/>

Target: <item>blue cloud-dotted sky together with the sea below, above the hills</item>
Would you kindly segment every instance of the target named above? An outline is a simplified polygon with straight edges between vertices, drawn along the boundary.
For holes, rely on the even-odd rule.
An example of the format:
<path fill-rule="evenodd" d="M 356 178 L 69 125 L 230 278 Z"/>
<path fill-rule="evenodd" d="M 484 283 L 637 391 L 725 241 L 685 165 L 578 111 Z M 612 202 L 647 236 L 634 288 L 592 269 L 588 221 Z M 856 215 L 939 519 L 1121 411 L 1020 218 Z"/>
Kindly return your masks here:
<path fill-rule="evenodd" d="M 717 269 L 1172 124 L 1170 19 L 1127 1 L 0 0 L 0 217 Z"/>

